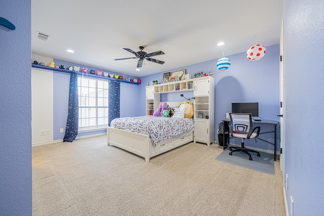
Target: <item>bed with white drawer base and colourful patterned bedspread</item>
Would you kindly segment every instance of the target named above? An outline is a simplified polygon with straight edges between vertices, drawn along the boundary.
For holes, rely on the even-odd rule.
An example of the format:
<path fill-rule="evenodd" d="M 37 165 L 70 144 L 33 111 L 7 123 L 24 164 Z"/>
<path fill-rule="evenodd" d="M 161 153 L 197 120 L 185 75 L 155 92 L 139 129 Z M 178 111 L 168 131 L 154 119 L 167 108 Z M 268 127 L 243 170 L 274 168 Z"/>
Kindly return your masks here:
<path fill-rule="evenodd" d="M 107 145 L 145 158 L 193 141 L 192 118 L 138 116 L 116 118 L 107 127 Z"/>

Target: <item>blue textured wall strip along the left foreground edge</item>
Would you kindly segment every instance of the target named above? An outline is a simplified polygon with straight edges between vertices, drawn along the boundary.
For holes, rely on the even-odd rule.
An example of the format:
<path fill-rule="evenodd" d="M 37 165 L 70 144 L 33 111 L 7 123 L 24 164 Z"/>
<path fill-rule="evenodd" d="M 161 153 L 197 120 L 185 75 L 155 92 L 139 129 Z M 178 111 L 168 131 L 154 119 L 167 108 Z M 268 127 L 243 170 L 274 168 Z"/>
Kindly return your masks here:
<path fill-rule="evenodd" d="M 31 1 L 0 5 L 0 215 L 32 215 Z"/>

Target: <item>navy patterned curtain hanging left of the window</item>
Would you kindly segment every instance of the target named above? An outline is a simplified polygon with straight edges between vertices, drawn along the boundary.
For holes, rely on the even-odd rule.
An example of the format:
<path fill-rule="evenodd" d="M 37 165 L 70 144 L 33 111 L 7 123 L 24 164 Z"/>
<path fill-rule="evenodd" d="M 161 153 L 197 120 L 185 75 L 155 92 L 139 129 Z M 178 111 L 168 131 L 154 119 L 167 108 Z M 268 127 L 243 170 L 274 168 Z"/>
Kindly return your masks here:
<path fill-rule="evenodd" d="M 63 142 L 72 142 L 77 136 L 79 120 L 79 99 L 77 94 L 77 73 L 73 71 L 70 75 L 69 107 Z"/>

